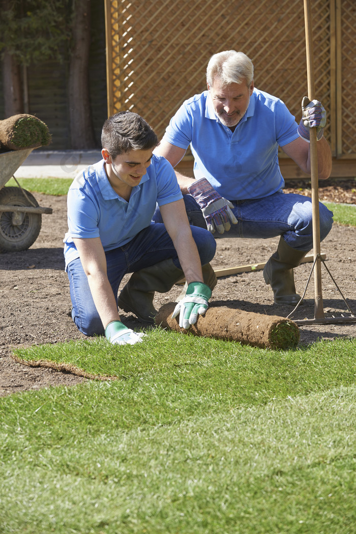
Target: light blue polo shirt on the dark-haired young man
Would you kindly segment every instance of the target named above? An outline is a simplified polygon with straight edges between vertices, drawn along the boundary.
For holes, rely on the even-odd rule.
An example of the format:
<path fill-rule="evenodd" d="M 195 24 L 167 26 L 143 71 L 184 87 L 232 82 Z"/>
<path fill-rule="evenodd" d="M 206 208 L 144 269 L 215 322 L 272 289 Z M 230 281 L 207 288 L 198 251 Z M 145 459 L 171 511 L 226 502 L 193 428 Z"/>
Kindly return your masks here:
<path fill-rule="evenodd" d="M 64 238 L 66 268 L 79 257 L 74 238 L 100 237 L 105 250 L 122 247 L 151 224 L 159 206 L 183 198 L 171 164 L 153 155 L 129 202 L 119 197 L 106 176 L 104 160 L 82 171 L 70 185 L 67 198 L 68 232 Z"/>

